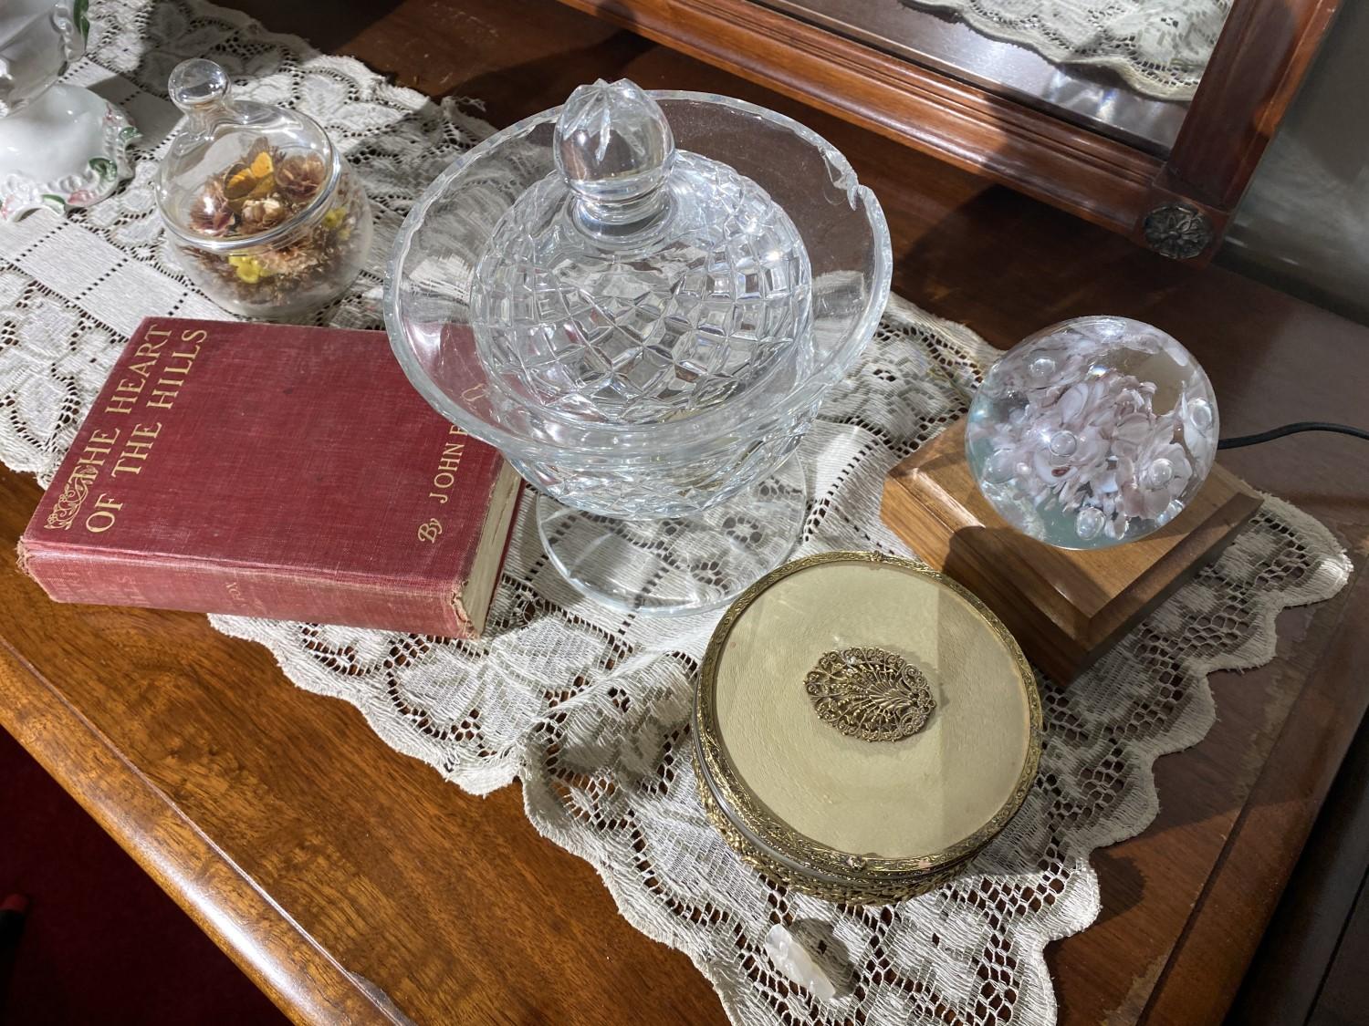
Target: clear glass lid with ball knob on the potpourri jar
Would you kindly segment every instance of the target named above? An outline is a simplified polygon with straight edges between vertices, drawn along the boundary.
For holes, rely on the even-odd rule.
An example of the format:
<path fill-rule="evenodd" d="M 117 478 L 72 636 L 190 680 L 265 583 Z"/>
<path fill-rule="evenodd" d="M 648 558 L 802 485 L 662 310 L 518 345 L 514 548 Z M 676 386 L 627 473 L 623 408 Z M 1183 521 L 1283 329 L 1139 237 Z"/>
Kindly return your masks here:
<path fill-rule="evenodd" d="M 227 74 L 212 60 L 182 62 L 167 90 L 185 114 L 157 168 L 157 205 L 172 231 L 205 248 L 261 242 L 329 202 L 341 159 L 312 118 L 234 98 Z M 205 182 L 220 175 L 223 194 L 209 196 Z M 244 208 L 277 202 L 281 194 L 304 205 L 290 223 L 263 218 L 253 230 Z"/>

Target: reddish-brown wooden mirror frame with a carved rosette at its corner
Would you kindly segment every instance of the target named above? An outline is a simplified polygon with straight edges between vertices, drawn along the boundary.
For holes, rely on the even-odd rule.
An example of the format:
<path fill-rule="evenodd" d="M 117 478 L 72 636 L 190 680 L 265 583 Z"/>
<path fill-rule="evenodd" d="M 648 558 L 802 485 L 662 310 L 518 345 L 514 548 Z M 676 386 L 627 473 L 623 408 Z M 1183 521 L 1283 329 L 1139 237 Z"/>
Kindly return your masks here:
<path fill-rule="evenodd" d="M 1206 263 L 1340 0 L 1235 0 L 1157 156 L 757 0 L 563 0 L 1131 237 Z"/>

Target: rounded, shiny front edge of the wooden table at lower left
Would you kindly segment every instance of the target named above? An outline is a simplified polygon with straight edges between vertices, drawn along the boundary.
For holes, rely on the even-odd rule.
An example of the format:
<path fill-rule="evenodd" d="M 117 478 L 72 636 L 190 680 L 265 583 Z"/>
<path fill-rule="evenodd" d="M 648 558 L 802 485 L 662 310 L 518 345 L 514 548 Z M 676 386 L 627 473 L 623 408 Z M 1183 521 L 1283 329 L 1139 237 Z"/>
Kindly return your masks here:
<path fill-rule="evenodd" d="M 0 725 L 292 1021 L 404 1022 L 4 639 Z"/>

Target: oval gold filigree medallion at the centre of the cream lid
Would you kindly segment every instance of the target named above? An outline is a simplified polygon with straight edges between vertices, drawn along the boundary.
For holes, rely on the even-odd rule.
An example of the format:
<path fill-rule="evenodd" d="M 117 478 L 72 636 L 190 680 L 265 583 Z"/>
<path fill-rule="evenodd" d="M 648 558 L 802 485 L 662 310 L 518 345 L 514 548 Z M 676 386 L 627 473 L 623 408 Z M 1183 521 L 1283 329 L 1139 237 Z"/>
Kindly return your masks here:
<path fill-rule="evenodd" d="M 898 741 L 936 709 L 921 670 L 883 648 L 824 653 L 804 679 L 817 715 L 849 737 Z"/>

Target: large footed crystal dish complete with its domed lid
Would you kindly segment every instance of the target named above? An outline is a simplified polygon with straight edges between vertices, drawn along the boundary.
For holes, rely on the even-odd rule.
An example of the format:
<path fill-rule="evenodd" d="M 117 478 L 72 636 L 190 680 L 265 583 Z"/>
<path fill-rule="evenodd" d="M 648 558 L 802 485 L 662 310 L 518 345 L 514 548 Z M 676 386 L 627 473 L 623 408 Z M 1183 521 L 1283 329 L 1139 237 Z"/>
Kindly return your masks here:
<path fill-rule="evenodd" d="M 802 124 L 596 82 L 438 176 L 394 244 L 385 317 L 415 387 L 538 488 L 572 584 L 693 611 L 797 542 L 789 457 L 890 269 L 879 202 Z"/>

